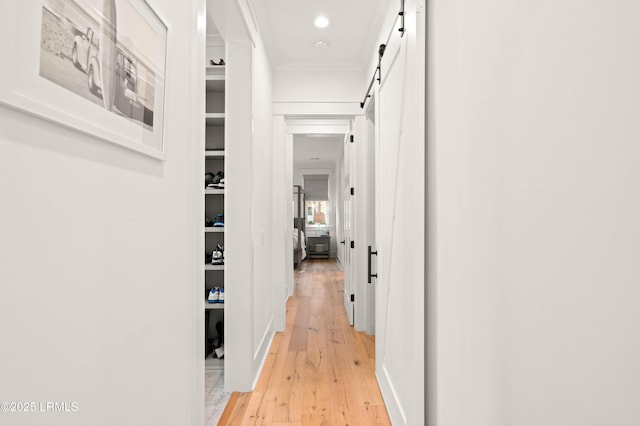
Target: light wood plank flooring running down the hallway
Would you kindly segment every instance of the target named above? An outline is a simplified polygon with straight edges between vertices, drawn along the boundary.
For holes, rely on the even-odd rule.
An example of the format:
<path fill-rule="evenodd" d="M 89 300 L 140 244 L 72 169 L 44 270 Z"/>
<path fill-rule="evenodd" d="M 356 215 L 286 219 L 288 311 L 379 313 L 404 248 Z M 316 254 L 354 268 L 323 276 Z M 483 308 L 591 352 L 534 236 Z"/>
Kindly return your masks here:
<path fill-rule="evenodd" d="M 295 273 L 287 328 L 276 333 L 253 392 L 232 394 L 219 425 L 390 425 L 372 336 L 349 326 L 334 260 Z"/>

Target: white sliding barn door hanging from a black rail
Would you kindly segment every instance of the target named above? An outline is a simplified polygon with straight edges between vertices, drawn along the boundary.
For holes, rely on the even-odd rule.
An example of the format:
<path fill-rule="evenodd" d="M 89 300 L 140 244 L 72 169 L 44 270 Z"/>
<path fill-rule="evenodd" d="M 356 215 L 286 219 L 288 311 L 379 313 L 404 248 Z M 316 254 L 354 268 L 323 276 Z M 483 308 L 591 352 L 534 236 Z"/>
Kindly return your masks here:
<path fill-rule="evenodd" d="M 415 13 L 393 35 L 381 63 L 375 102 L 376 375 L 394 424 L 423 424 L 424 91 Z M 395 34 L 398 34 L 395 32 Z M 422 411 L 422 412 L 421 412 Z"/>

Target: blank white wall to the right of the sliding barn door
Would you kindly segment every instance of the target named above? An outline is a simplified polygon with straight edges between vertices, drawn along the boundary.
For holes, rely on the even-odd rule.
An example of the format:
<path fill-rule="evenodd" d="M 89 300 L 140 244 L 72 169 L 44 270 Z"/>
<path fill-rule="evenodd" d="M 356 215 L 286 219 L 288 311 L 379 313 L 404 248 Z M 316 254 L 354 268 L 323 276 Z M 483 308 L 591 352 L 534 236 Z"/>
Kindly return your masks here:
<path fill-rule="evenodd" d="M 640 424 L 639 13 L 430 2 L 431 424 Z"/>

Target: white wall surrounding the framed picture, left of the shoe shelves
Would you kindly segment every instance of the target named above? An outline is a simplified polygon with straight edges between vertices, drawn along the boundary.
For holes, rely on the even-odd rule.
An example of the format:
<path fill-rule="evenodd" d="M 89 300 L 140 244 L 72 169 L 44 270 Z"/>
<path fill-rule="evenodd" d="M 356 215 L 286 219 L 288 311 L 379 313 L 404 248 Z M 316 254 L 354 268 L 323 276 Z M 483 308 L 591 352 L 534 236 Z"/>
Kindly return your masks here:
<path fill-rule="evenodd" d="M 3 424 L 204 421 L 204 52 L 184 49 L 203 2 L 149 3 L 170 27 L 167 161 L 0 107 L 0 394 L 78 403 Z"/>

